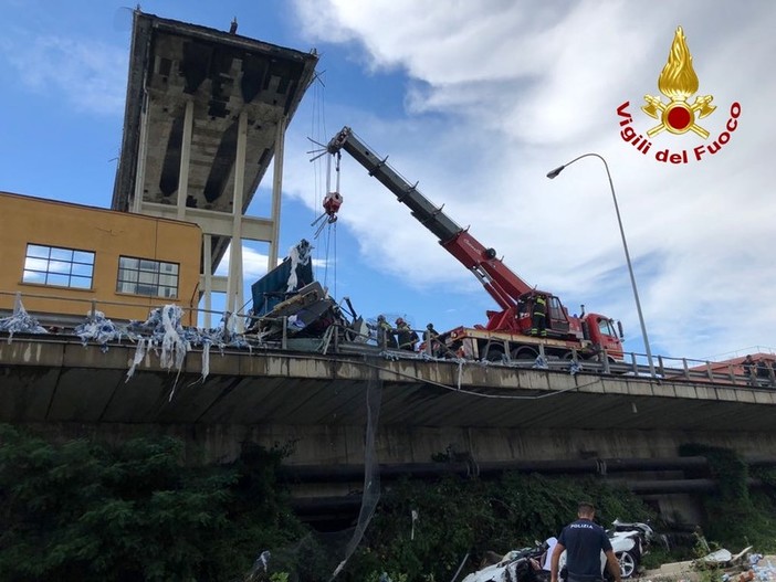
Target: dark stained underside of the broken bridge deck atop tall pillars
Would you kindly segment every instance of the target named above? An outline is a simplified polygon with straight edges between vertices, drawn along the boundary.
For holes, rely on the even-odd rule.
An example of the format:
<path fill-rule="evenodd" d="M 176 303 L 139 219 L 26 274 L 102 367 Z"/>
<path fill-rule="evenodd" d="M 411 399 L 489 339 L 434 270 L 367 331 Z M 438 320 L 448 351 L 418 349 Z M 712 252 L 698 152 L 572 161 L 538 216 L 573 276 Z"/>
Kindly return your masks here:
<path fill-rule="evenodd" d="M 244 191 L 242 208 L 234 209 L 244 213 L 273 159 L 279 129 L 296 112 L 316 63 L 314 52 L 136 10 L 113 210 L 167 215 L 167 207 L 175 218 L 185 188 L 186 208 L 203 211 L 198 216 L 231 214 L 238 119 L 244 113 Z M 186 184 L 179 183 L 183 159 L 189 160 Z M 213 239 L 213 267 L 228 243 L 223 235 Z"/>

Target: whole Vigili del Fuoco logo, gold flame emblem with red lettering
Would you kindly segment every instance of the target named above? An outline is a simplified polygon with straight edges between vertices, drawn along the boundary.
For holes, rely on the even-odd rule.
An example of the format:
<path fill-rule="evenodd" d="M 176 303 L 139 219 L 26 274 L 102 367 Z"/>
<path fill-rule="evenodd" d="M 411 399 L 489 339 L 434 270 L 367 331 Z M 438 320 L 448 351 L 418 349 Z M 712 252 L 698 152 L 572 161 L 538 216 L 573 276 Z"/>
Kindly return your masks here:
<path fill-rule="evenodd" d="M 703 127 L 702 120 L 712 115 L 716 106 L 711 104 L 714 99 L 712 95 L 698 95 L 691 104 L 689 99 L 698 93 L 698 75 L 692 67 L 692 55 L 688 49 L 682 27 L 679 27 L 671 43 L 668 62 L 658 77 L 658 89 L 668 98 L 668 102 L 664 102 L 660 96 L 644 95 L 646 104 L 641 106 L 641 110 L 652 119 L 656 119 L 658 125 L 647 130 L 647 137 L 638 133 L 632 125 L 633 117 L 628 113 L 630 102 L 625 102 L 617 108 L 617 115 L 620 117 L 620 127 L 622 127 L 620 137 L 644 156 L 652 148 L 651 139 L 664 131 L 673 135 L 683 135 L 692 131 L 699 138 L 705 140 L 704 144 L 689 151 L 686 149 L 671 150 L 668 147 L 663 149 L 656 148 L 653 150 L 654 159 L 664 163 L 701 161 L 717 154 L 731 140 L 731 136 L 738 127 L 741 104 L 734 102 L 730 106 L 724 130 L 712 141 L 707 141 L 710 133 Z"/>

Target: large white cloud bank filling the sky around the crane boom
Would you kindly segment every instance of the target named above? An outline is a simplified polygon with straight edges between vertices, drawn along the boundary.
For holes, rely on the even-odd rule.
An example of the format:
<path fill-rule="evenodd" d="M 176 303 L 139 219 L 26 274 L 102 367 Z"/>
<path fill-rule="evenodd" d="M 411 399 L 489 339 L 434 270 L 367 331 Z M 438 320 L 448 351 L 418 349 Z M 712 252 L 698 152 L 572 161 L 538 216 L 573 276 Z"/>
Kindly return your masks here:
<path fill-rule="evenodd" d="M 378 109 L 337 109 L 335 117 L 390 155 L 411 182 L 420 180 L 454 220 L 471 223 L 528 283 L 555 290 L 571 310 L 585 300 L 621 314 L 637 336 L 604 168 L 581 160 L 552 182 L 545 178 L 559 163 L 598 151 L 611 169 L 651 340 L 665 352 L 699 357 L 775 346 L 769 96 L 776 80 L 764 72 L 776 53 L 776 4 L 536 6 L 297 1 L 311 39 L 353 46 L 371 75 L 388 70 L 408 77 L 403 117 Z M 714 95 L 719 106 L 701 124 L 711 139 L 724 129 L 732 102 L 741 102 L 743 113 L 720 154 L 672 166 L 653 155 L 664 148 L 692 155 L 702 140 L 662 134 L 641 156 L 618 136 L 616 109 L 630 100 L 638 130 L 654 125 L 639 107 L 644 94 L 659 95 L 657 77 L 679 24 L 699 93 Z M 369 202 L 353 204 L 340 220 L 369 261 L 409 274 L 419 286 L 471 284 L 382 186 L 353 170 L 353 160 L 343 166 L 350 191 Z"/>

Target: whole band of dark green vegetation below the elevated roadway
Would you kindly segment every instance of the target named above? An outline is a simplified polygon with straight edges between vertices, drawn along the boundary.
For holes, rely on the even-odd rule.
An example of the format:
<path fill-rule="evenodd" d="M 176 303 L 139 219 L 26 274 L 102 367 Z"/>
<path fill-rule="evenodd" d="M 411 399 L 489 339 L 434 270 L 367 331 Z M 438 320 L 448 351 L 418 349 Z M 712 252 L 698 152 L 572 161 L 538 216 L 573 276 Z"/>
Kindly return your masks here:
<path fill-rule="evenodd" d="M 315 533 L 293 515 L 277 470 L 287 449 L 247 445 L 237 462 L 203 467 L 185 466 L 182 453 L 169 437 L 54 445 L 0 426 L 0 580 L 331 579 L 352 531 Z M 721 480 L 720 491 L 703 498 L 707 539 L 736 551 L 748 543 L 776 549 L 776 472 L 749 475 L 722 449 L 684 453 L 714 459 Z M 768 486 L 748 489 L 751 476 Z M 489 550 L 557 535 L 583 498 L 596 504 L 604 525 L 654 517 L 629 491 L 595 477 L 449 476 L 384 484 L 384 491 L 337 580 L 377 582 L 386 572 L 394 582 L 441 582 L 468 557 L 460 580 Z M 272 553 L 269 572 L 252 570 L 262 550 Z M 644 565 L 688 557 L 653 547 Z"/>

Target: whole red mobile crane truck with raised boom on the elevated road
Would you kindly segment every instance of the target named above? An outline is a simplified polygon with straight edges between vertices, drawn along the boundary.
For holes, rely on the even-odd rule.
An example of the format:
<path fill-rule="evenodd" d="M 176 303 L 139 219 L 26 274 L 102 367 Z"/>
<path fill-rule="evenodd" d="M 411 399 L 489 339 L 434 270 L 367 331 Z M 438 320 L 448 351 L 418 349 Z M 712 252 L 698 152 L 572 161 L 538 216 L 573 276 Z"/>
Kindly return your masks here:
<path fill-rule="evenodd" d="M 390 190 L 399 202 L 409 207 L 412 215 L 431 231 L 450 254 L 471 271 L 493 297 L 501 310 L 486 311 L 487 324 L 473 328 L 458 327 L 442 339 L 449 349 L 469 358 L 485 358 L 491 361 L 510 359 L 535 359 L 543 346 L 545 356 L 588 359 L 606 353 L 611 360 L 622 359 L 621 325 L 619 336 L 615 321 L 598 314 L 569 316 L 566 308 L 552 293 L 537 290 L 515 275 L 496 258 L 493 248 L 486 248 L 468 229 L 452 221 L 441 208 L 437 208 L 417 189 L 397 173 L 386 160 L 368 148 L 349 127 L 344 127 L 326 147 L 334 156 L 347 151 L 369 176 Z M 536 297 L 546 299 L 547 337 L 528 335 L 532 328 L 532 311 Z"/>

